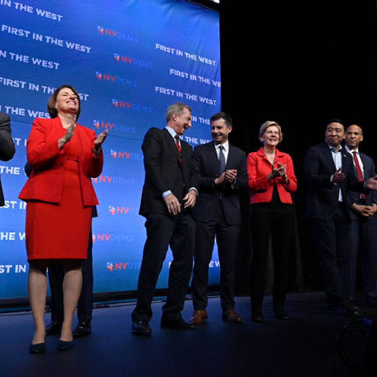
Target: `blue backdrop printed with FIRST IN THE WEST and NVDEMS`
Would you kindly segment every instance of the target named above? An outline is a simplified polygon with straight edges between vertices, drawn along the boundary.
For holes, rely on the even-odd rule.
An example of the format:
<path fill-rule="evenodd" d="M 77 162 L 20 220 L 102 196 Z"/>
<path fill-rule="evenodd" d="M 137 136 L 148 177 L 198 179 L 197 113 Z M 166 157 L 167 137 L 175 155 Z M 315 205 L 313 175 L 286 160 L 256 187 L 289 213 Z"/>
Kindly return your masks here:
<path fill-rule="evenodd" d="M 104 169 L 93 179 L 94 290 L 136 290 L 146 237 L 141 142 L 150 127 L 165 126 L 176 101 L 193 109 L 184 140 L 211 139 L 209 118 L 221 109 L 218 13 L 183 0 L 0 0 L 0 30 L 0 110 L 11 117 L 16 144 L 14 158 L 0 161 L 0 299 L 27 296 L 26 204 L 17 198 L 27 179 L 26 140 L 64 83 L 80 92 L 78 123 L 109 129 Z M 170 261 L 169 251 L 158 288 L 167 286 Z M 210 284 L 218 281 L 215 252 Z"/>

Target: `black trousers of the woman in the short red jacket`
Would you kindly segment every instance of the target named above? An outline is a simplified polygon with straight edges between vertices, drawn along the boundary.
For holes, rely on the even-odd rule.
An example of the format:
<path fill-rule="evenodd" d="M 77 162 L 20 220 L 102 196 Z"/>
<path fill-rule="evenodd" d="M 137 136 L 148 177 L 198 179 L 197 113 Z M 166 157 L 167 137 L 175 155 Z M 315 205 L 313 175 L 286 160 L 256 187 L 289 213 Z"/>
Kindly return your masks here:
<path fill-rule="evenodd" d="M 262 314 L 264 291 L 267 283 L 267 262 L 272 241 L 274 311 L 284 311 L 288 281 L 288 259 L 293 240 L 293 206 L 290 204 L 251 205 L 251 236 L 253 258 L 251 263 L 251 310 Z"/>

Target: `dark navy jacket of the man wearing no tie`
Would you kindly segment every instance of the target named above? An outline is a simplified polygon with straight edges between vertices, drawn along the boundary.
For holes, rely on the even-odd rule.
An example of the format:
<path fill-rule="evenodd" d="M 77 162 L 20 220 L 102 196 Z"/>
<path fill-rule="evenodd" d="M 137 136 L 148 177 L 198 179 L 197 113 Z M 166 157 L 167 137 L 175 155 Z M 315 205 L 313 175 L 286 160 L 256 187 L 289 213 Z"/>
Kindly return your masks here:
<path fill-rule="evenodd" d="M 333 156 L 327 143 L 311 147 L 304 160 L 305 180 L 307 182 L 306 216 L 313 219 L 330 220 L 339 200 L 342 189 L 343 202 L 350 208 L 348 190 L 367 193 L 363 182 L 359 182 L 354 173 L 352 156 L 342 149 L 342 173 L 346 178 L 340 184 L 330 182 L 336 172 Z M 350 211 L 348 211 L 349 213 Z"/>

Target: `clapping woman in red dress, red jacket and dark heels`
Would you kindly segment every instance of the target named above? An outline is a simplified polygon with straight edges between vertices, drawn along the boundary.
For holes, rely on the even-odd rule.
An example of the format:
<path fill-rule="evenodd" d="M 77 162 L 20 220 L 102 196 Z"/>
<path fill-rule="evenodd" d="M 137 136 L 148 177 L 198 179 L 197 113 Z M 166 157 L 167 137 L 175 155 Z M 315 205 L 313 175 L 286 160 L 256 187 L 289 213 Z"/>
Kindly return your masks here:
<path fill-rule="evenodd" d="M 63 262 L 64 320 L 60 350 L 73 346 L 72 319 L 81 292 L 81 261 L 87 258 L 93 205 L 98 204 L 90 177 L 100 175 L 102 143 L 107 131 L 95 132 L 76 123 L 80 97 L 63 85 L 48 101 L 51 119 L 36 118 L 27 143 L 33 170 L 19 198 L 26 207 L 26 250 L 29 261 L 29 300 L 35 333 L 29 351 L 44 351 L 46 267 Z"/>

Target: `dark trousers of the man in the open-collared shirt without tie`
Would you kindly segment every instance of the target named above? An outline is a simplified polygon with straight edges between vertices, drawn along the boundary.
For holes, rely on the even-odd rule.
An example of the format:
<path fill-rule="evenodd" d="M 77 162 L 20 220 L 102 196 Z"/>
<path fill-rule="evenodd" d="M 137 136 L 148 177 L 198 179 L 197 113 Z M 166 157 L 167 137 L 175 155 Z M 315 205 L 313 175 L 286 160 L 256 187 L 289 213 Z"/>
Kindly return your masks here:
<path fill-rule="evenodd" d="M 322 270 L 329 305 L 340 305 L 345 298 L 345 258 L 351 247 L 351 220 L 346 207 L 339 203 L 329 220 L 311 220 L 314 245 Z"/>

